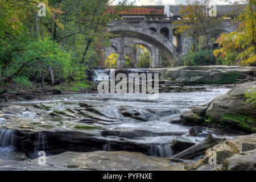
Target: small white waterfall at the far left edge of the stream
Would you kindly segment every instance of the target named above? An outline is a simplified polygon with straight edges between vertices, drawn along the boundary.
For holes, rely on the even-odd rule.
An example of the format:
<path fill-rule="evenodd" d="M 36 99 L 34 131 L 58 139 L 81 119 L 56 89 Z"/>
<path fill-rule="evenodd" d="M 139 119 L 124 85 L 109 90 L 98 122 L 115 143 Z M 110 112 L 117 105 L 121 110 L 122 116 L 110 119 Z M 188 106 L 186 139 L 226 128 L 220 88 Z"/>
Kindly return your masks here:
<path fill-rule="evenodd" d="M 0 130 L 0 158 L 8 159 L 15 153 L 15 130 Z"/>

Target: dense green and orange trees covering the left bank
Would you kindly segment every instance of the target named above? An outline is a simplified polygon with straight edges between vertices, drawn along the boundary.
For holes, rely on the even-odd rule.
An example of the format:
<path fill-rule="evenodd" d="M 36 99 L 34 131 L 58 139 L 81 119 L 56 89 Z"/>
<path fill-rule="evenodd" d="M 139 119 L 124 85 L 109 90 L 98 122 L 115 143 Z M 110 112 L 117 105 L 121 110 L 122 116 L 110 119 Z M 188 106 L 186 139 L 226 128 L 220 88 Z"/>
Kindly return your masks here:
<path fill-rule="evenodd" d="M 38 16 L 38 4 L 46 16 Z M 44 80 L 51 85 L 86 81 L 86 69 L 109 46 L 107 31 L 128 0 L 0 0 L 0 84 Z M 109 13 L 111 10 L 112 13 Z M 26 77 L 26 78 L 25 78 Z M 17 79 L 15 79 L 17 80 Z"/>

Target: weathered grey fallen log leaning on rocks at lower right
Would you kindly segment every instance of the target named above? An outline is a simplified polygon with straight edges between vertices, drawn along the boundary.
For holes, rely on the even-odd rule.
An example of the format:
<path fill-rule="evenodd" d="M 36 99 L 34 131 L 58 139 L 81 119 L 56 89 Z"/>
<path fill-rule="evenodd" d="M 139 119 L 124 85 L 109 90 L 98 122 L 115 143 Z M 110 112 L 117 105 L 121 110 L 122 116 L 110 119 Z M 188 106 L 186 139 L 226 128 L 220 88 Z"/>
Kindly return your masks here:
<path fill-rule="evenodd" d="M 212 134 L 209 134 L 207 138 L 205 138 L 202 142 L 195 144 L 195 146 L 192 146 L 188 148 L 187 150 L 184 150 L 180 152 L 179 154 L 176 154 L 172 156 L 172 159 L 192 159 L 196 156 L 199 156 L 201 154 L 204 154 L 204 152 L 210 148 L 215 146 L 216 144 L 219 144 L 221 142 L 224 142 L 226 138 L 214 138 Z"/>

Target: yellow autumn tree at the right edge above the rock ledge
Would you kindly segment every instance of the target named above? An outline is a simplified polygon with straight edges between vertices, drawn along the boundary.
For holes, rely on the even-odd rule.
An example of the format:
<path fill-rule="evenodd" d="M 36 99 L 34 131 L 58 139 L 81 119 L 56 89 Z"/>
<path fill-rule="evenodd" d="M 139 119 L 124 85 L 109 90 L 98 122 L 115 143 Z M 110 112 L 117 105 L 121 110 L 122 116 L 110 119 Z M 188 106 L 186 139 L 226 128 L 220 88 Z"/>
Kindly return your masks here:
<path fill-rule="evenodd" d="M 240 22 L 237 30 L 221 35 L 218 39 L 220 49 L 215 50 L 214 55 L 225 62 L 236 55 L 238 64 L 256 66 L 256 2 L 246 0 L 246 3 L 245 9 L 237 18 Z"/>

